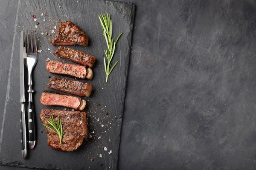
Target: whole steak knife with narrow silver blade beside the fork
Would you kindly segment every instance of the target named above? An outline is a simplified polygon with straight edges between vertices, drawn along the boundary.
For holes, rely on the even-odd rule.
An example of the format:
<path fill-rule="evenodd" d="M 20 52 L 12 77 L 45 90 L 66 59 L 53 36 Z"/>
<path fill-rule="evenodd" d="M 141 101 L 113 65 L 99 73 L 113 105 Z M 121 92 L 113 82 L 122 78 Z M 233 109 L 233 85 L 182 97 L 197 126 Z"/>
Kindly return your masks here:
<path fill-rule="evenodd" d="M 25 118 L 25 85 L 24 85 L 24 60 L 23 56 L 26 55 L 24 32 L 21 31 L 20 35 L 20 104 L 21 104 L 21 117 L 20 117 L 20 134 L 21 134 L 21 153 L 23 159 L 26 159 L 26 118 Z"/>

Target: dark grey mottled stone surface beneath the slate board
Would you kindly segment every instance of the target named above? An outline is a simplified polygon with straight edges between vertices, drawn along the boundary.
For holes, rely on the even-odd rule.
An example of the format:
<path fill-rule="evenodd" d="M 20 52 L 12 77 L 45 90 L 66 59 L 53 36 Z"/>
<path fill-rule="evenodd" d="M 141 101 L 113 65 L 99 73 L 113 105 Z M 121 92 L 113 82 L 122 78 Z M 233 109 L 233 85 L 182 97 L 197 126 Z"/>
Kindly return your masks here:
<path fill-rule="evenodd" d="M 256 2 L 125 1 L 136 15 L 118 169 L 256 169 Z M 3 111 L 16 0 L 0 11 Z"/>

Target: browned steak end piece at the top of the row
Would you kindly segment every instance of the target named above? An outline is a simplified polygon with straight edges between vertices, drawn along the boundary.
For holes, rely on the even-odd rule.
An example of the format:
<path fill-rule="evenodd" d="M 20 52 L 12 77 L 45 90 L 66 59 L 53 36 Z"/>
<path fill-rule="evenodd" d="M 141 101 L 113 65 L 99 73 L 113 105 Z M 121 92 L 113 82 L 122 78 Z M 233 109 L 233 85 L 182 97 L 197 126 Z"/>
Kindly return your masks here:
<path fill-rule="evenodd" d="M 88 45 L 88 36 L 70 21 L 61 22 L 57 28 L 55 37 L 52 40 L 52 45 Z"/>

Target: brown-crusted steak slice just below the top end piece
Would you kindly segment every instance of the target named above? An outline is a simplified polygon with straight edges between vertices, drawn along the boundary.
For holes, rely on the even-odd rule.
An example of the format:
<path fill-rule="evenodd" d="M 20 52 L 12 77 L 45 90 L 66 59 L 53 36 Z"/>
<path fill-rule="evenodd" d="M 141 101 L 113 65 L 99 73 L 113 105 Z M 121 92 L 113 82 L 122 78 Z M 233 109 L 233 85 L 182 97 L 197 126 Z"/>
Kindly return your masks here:
<path fill-rule="evenodd" d="M 76 62 L 78 64 L 88 66 L 88 67 L 93 67 L 94 62 L 96 61 L 96 58 L 89 54 L 85 54 L 81 51 L 77 51 L 72 48 L 64 47 L 64 46 L 59 46 L 53 52 L 53 54 L 57 57 L 68 59 L 72 62 Z"/>

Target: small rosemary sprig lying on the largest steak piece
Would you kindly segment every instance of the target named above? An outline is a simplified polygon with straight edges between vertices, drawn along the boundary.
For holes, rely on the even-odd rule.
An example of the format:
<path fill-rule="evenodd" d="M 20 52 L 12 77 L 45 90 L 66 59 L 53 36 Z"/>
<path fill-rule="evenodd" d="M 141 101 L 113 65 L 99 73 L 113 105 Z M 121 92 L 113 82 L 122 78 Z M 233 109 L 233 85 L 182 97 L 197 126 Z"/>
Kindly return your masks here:
<path fill-rule="evenodd" d="M 61 123 L 61 120 L 59 119 L 59 116 L 57 118 L 57 125 L 55 124 L 53 116 L 51 116 L 50 120 L 47 120 L 47 119 L 45 119 L 45 120 L 50 124 L 50 126 L 46 125 L 44 123 L 42 123 L 42 125 L 44 125 L 45 127 L 49 128 L 50 130 L 57 133 L 59 136 L 59 139 L 60 139 L 60 144 L 61 144 L 61 140 L 62 140 L 62 137 L 63 137 L 65 131 L 63 132 L 62 123 Z"/>

